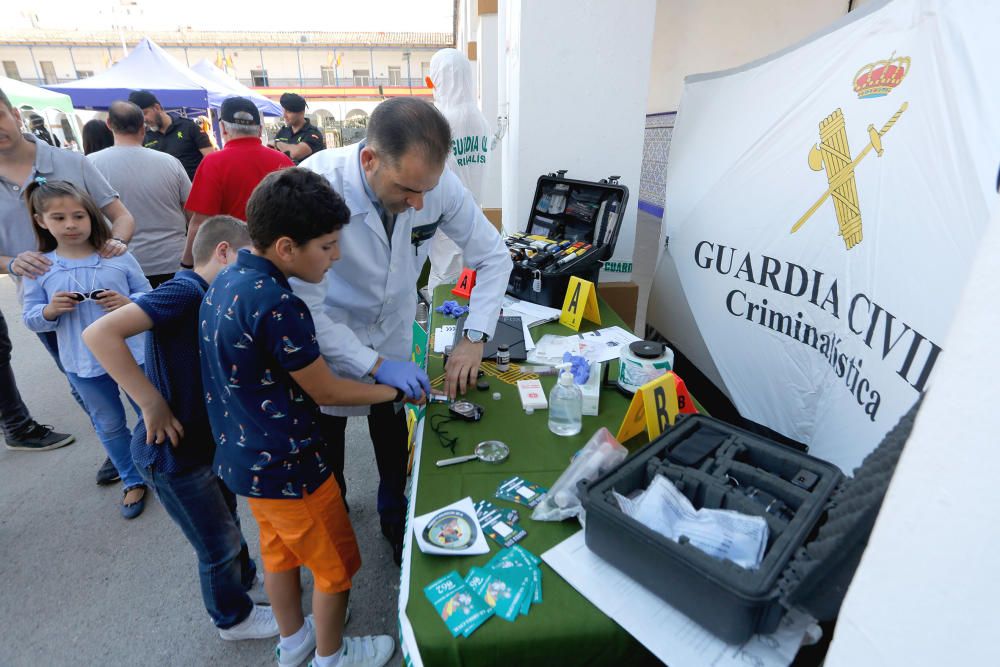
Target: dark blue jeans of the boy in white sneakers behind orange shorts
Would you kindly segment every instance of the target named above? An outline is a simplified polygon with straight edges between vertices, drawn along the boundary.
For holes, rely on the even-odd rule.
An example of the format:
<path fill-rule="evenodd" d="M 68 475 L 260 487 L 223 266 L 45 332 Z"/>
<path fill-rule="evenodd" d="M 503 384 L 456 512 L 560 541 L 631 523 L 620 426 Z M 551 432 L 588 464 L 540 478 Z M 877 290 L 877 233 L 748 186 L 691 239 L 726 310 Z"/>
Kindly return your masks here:
<path fill-rule="evenodd" d="M 246 619 L 253 609 L 246 591 L 257 566 L 240 530 L 236 496 L 209 465 L 183 472 L 150 466 L 142 475 L 198 555 L 201 597 L 212 622 L 225 629 Z"/>

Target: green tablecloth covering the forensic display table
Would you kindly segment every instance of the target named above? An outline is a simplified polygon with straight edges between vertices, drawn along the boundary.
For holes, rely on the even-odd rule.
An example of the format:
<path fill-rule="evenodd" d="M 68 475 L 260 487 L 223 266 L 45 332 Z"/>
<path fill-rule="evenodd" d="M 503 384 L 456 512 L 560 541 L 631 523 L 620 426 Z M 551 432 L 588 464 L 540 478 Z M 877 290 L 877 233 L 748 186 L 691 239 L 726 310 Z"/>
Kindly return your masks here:
<path fill-rule="evenodd" d="M 455 298 L 448 293 L 448 286 L 435 292 L 435 303 Z M 464 300 L 457 299 L 464 303 Z M 582 331 L 605 326 L 625 327 L 621 318 L 599 299 L 601 325 L 584 322 Z M 430 331 L 436 326 L 453 323 L 432 312 Z M 627 327 L 625 327 L 627 328 Z M 546 333 L 569 335 L 573 333 L 558 322 L 541 325 L 531 330 L 538 340 Z M 433 350 L 433 346 L 428 346 Z M 612 371 L 616 371 L 613 364 Z M 442 376 L 441 355 L 428 358 L 428 374 L 434 381 Z M 601 393 L 600 415 L 583 417 L 583 430 L 579 435 L 560 437 L 548 430 L 548 411 L 538 410 L 527 415 L 521 408 L 516 385 L 508 385 L 487 370 L 489 391 L 473 388 L 467 398 L 486 408 L 478 423 L 451 422 L 445 429 L 458 438 L 452 454 L 444 449 L 438 436 L 431 431 L 424 419 L 422 435 L 413 464 L 413 493 L 410 500 L 410 517 L 419 516 L 443 507 L 465 496 L 473 502 L 490 499 L 498 507 L 512 507 L 511 503 L 493 498 L 501 480 L 521 475 L 542 486 L 551 486 L 570 462 L 570 457 L 586 444 L 589 437 L 601 426 L 615 433 L 628 408 L 628 400 L 615 390 Z M 543 377 L 546 395 L 555 382 L 554 377 Z M 499 391 L 503 398 L 495 401 L 492 394 Z M 431 405 L 427 416 L 445 413 L 447 407 Z M 502 464 L 489 465 L 472 461 L 447 468 L 436 467 L 435 461 L 449 456 L 468 454 L 482 440 L 502 440 L 510 446 L 510 457 Z M 644 435 L 625 443 L 631 451 L 645 444 Z M 580 530 L 575 521 L 562 523 L 532 521 L 531 510 L 518 506 L 521 522 L 528 535 L 519 544 L 536 556 L 555 546 Z M 586 598 L 570 587 L 548 565 L 542 564 L 542 590 L 544 602 L 531 607 L 527 616 L 514 623 L 492 618 L 468 638 L 452 638 L 444 622 L 424 596 L 424 586 L 438 577 L 456 570 L 465 576 L 469 568 L 484 565 L 499 546 L 490 541 L 489 554 L 466 557 L 430 556 L 420 552 L 412 542 L 410 531 L 403 562 L 400 590 L 400 626 L 404 652 L 408 661 L 415 664 L 443 667 L 446 665 L 635 665 L 658 664 L 658 661 L 614 621 L 604 615 Z"/>

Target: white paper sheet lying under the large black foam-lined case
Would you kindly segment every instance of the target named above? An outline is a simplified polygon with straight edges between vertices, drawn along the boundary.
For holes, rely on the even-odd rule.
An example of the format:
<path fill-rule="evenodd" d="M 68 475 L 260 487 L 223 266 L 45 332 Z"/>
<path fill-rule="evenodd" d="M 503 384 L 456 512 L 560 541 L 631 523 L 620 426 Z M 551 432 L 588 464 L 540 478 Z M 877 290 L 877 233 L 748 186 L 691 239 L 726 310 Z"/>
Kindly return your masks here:
<path fill-rule="evenodd" d="M 814 621 L 790 611 L 771 635 L 727 644 L 596 556 L 580 531 L 542 554 L 573 588 L 671 667 L 785 667 Z M 812 633 L 811 633 L 812 634 Z"/>

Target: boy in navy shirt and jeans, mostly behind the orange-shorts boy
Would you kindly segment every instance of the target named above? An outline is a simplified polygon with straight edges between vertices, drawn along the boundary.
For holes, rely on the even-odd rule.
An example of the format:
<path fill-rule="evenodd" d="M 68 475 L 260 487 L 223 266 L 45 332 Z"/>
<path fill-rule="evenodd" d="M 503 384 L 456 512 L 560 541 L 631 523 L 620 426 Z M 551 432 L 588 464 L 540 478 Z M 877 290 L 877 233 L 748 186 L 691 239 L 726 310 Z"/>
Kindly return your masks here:
<path fill-rule="evenodd" d="M 215 441 L 198 359 L 198 309 L 205 291 L 248 245 L 241 221 L 207 220 L 194 241 L 193 271 L 179 271 L 83 334 L 108 374 L 142 408 L 132 460 L 194 546 L 205 608 L 229 640 L 278 634 L 271 608 L 255 606 L 247 594 L 257 568 L 240 531 L 236 497 L 212 470 Z M 145 374 L 125 345 L 126 338 L 143 331 L 150 332 Z"/>

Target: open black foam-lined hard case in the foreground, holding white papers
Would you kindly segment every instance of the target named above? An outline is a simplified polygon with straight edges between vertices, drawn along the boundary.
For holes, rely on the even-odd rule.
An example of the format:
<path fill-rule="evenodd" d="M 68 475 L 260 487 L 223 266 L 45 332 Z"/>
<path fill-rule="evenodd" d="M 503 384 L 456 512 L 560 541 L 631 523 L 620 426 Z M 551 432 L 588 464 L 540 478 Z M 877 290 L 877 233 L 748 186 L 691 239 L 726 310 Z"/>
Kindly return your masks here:
<path fill-rule="evenodd" d="M 787 609 L 818 620 L 840 610 L 881 507 L 917 406 L 853 478 L 825 461 L 704 415 L 676 426 L 617 468 L 581 482 L 587 546 L 731 644 L 770 634 Z M 619 510 L 665 475 L 695 508 L 729 509 L 768 523 L 756 570 L 674 542 Z"/>

